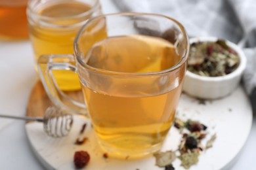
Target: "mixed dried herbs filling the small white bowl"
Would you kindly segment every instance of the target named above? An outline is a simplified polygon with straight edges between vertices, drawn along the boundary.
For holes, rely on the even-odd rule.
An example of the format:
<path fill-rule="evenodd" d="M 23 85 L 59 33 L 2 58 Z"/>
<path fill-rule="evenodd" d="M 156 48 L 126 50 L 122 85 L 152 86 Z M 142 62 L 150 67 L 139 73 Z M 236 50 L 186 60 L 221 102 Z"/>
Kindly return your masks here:
<path fill-rule="evenodd" d="M 188 71 L 201 76 L 224 76 L 239 65 L 238 54 L 225 41 L 194 42 L 190 45 Z"/>

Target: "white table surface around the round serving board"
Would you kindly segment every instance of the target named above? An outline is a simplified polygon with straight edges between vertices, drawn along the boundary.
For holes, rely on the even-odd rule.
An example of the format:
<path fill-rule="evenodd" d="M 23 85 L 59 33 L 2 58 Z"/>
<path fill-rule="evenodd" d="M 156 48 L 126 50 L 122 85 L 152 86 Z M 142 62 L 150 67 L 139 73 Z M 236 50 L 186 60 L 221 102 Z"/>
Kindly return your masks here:
<path fill-rule="evenodd" d="M 105 13 L 117 11 L 109 0 L 102 0 L 102 6 Z M 37 81 L 30 42 L 0 41 L 0 80 L 0 112 L 24 116 Z M 44 169 L 30 148 L 24 124 L 0 118 L 0 169 Z M 255 150 L 256 120 L 253 120 L 247 143 L 232 169 L 255 169 Z"/>

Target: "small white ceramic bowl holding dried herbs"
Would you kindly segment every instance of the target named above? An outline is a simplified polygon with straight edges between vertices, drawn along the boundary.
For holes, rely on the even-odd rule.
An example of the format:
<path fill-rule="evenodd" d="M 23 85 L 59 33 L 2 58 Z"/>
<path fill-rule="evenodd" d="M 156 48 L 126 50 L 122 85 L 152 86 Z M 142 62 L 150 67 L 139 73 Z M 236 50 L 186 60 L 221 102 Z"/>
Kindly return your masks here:
<path fill-rule="evenodd" d="M 190 39 L 193 42 L 215 42 L 216 37 L 197 37 Z M 246 58 L 242 49 L 236 44 L 226 41 L 226 44 L 238 53 L 240 64 L 235 71 L 224 76 L 200 76 L 186 71 L 183 91 L 200 99 L 218 99 L 232 93 L 240 83 L 242 73 L 246 66 Z"/>

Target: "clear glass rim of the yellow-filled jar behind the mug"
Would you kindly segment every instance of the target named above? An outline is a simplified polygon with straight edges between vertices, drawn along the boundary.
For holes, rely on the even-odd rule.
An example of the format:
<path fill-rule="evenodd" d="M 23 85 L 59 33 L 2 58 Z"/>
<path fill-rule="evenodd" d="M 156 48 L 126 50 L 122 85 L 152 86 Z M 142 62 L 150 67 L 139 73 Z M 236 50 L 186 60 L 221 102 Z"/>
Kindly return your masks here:
<path fill-rule="evenodd" d="M 64 17 L 50 17 L 50 16 L 42 16 L 40 14 L 37 14 L 37 11 L 39 8 L 41 8 L 41 5 L 38 5 L 37 3 L 40 3 L 41 0 L 29 0 L 28 1 L 28 7 L 27 7 L 27 14 L 28 14 L 28 21 L 34 22 L 35 20 L 41 21 L 42 25 L 49 25 L 51 27 L 62 27 L 62 28 L 70 28 L 70 27 L 81 27 L 81 25 L 84 25 L 88 18 L 87 16 L 93 16 L 93 13 L 95 13 L 96 10 L 100 9 L 100 0 L 95 0 L 95 3 L 91 5 L 91 9 L 87 10 L 86 12 L 83 12 L 81 14 L 77 14 L 74 16 L 64 16 Z M 58 4 L 60 1 L 54 1 L 51 2 L 53 4 Z M 69 1 L 66 1 L 69 2 Z M 79 1 L 77 1 L 79 2 Z M 44 3 L 47 3 L 45 1 Z M 39 7 L 37 7 L 39 6 Z M 49 24 L 49 22 L 52 22 L 54 20 L 67 20 L 72 18 L 81 18 L 81 20 L 77 20 L 75 24 Z M 83 18 L 87 18 L 86 20 L 83 20 Z"/>

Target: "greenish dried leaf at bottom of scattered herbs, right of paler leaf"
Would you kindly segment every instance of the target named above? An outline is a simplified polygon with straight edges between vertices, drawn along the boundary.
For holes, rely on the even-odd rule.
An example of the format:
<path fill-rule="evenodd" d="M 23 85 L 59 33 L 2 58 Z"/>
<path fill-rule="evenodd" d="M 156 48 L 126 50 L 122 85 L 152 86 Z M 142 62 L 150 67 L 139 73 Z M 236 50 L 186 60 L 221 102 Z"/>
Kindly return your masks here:
<path fill-rule="evenodd" d="M 198 163 L 199 156 L 200 153 L 198 152 L 187 152 L 185 154 L 182 154 L 178 158 L 181 160 L 181 166 L 185 169 L 189 169 L 192 165 Z"/>

